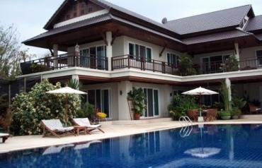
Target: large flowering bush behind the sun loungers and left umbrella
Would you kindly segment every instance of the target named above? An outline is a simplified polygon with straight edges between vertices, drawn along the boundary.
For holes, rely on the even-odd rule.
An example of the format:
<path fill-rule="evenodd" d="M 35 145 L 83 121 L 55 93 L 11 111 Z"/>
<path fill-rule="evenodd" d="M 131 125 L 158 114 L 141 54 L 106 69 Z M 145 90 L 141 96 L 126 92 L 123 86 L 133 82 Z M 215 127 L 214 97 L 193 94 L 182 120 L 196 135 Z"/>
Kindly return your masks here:
<path fill-rule="evenodd" d="M 42 133 L 42 119 L 60 119 L 65 124 L 65 95 L 48 94 L 47 91 L 61 88 L 60 83 L 52 85 L 48 80 L 36 83 L 30 92 L 20 92 L 13 98 L 11 106 L 11 131 L 15 135 L 38 135 Z M 77 95 L 68 96 L 67 116 L 72 119 L 80 109 Z M 70 125 L 70 123 L 67 123 Z"/>

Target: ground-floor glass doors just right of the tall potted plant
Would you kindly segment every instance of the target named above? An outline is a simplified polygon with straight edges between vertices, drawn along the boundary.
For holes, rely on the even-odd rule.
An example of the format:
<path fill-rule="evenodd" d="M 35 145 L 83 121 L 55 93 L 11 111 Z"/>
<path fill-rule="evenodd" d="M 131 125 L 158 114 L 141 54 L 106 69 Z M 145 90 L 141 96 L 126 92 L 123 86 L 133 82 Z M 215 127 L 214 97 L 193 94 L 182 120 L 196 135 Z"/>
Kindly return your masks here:
<path fill-rule="evenodd" d="M 144 95 L 146 95 L 145 103 L 147 109 L 144 110 L 144 117 L 159 116 L 159 90 L 144 88 Z"/>

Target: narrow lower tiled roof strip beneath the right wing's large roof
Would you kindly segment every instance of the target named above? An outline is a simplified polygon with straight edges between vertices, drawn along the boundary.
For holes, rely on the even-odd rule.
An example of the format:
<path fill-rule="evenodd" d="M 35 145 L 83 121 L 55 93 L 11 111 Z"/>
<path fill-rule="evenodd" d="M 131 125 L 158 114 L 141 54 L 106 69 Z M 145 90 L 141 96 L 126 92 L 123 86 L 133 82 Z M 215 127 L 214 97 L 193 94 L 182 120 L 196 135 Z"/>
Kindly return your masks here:
<path fill-rule="evenodd" d="M 186 44 L 200 44 L 205 42 L 213 42 L 217 40 L 229 40 L 236 37 L 246 37 L 253 35 L 250 32 L 244 32 L 243 30 L 230 30 L 226 32 L 216 32 L 208 35 L 200 35 L 196 37 L 190 37 L 183 39 L 182 41 Z"/>

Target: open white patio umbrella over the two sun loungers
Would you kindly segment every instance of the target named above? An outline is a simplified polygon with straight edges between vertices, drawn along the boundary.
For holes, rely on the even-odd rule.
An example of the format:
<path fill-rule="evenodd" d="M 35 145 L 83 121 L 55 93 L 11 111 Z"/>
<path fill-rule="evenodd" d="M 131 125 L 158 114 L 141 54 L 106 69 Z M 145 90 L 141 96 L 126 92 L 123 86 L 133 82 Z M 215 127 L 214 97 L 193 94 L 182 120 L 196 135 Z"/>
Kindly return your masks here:
<path fill-rule="evenodd" d="M 68 116 L 67 116 L 67 112 L 68 112 L 68 95 L 69 94 L 74 94 L 74 95 L 86 95 L 87 94 L 86 92 L 75 90 L 73 88 L 69 88 L 68 86 L 64 87 L 64 88 L 59 88 L 59 89 L 56 89 L 56 90 L 50 90 L 47 93 L 50 93 L 50 94 L 64 94 L 64 95 L 66 95 L 66 98 L 65 98 L 66 114 L 65 114 L 64 118 L 65 118 L 65 121 L 67 121 L 67 122 L 68 122 Z"/>

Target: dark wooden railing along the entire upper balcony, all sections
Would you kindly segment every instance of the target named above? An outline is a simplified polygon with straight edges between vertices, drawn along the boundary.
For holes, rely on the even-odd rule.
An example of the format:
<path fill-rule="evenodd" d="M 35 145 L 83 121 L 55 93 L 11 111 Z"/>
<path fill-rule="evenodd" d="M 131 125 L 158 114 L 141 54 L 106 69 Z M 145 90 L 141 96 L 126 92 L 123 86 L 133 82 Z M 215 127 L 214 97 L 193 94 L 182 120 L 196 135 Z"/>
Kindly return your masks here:
<path fill-rule="evenodd" d="M 188 69 L 193 69 L 195 75 L 200 75 L 262 68 L 262 59 L 250 58 L 233 61 L 229 59 L 224 63 L 222 61 L 212 61 L 208 63 L 194 64 L 191 67 L 186 67 L 185 65 L 182 67 L 179 65 L 176 66 L 169 64 L 165 61 L 146 59 L 144 57 L 137 57 L 127 54 L 123 56 L 113 56 L 113 58 L 111 58 L 110 66 L 112 71 L 124 68 L 137 68 L 141 71 L 152 71 L 181 76 L 181 72 L 188 71 Z M 108 58 L 97 57 L 95 55 L 79 56 L 79 54 L 76 53 L 67 53 L 21 63 L 21 71 L 23 75 L 70 67 L 82 67 L 108 71 Z M 186 74 L 184 76 L 187 75 L 190 74 Z"/>

